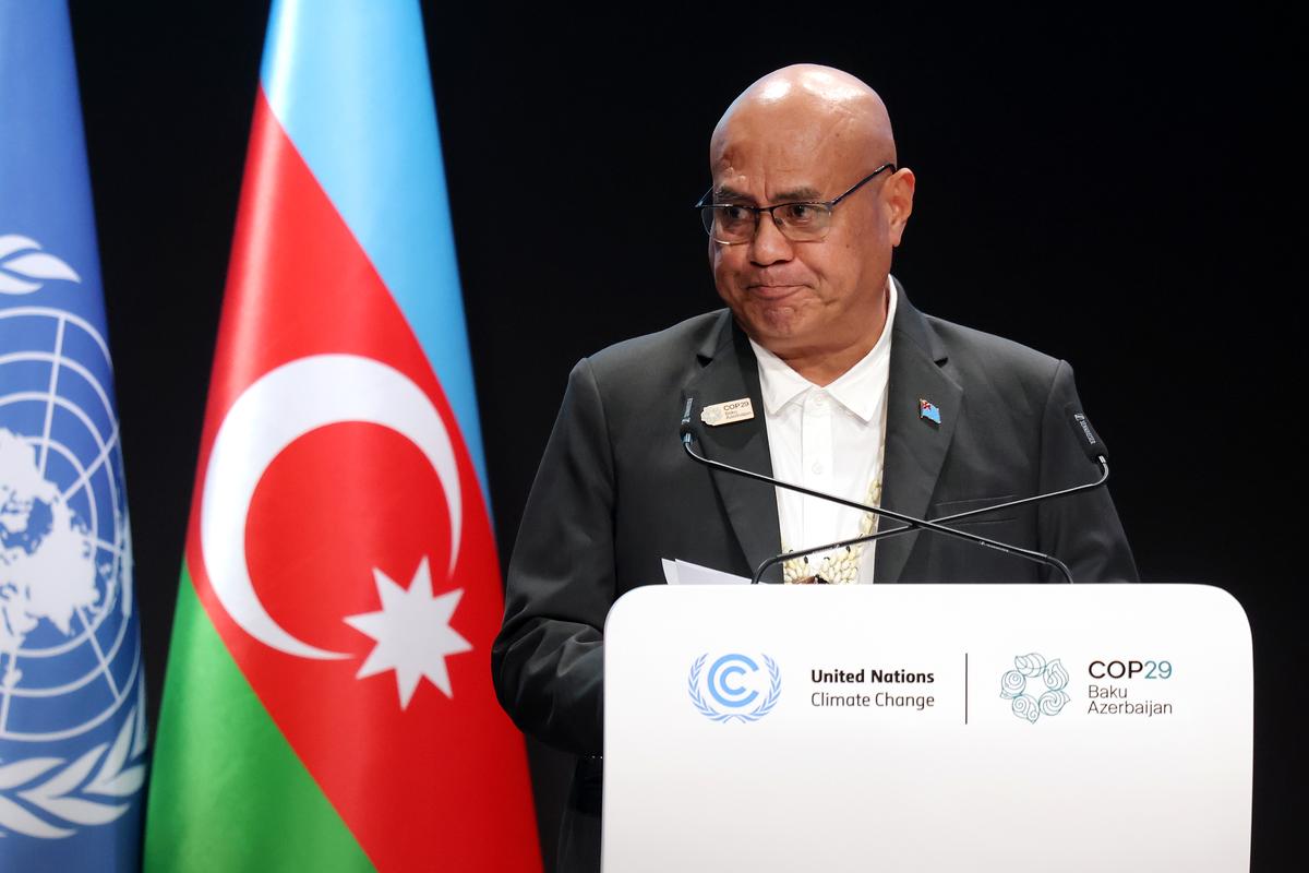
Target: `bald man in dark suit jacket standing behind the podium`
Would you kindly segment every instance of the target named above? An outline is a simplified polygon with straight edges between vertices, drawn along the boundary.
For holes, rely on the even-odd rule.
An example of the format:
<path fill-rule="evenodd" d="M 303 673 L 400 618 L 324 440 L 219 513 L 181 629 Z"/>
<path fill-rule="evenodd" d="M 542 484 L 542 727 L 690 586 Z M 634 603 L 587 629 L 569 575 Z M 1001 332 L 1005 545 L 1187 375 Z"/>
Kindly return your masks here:
<path fill-rule="evenodd" d="M 679 440 L 685 411 L 715 461 L 912 518 L 1097 476 L 1071 425 L 1081 407 L 1067 363 L 924 315 L 890 275 L 915 181 L 868 85 L 814 65 L 764 76 L 715 128 L 709 169 L 696 205 L 726 309 L 577 364 L 509 564 L 492 671 L 524 732 L 579 755 L 560 843 L 569 872 L 600 865 L 602 628 L 613 602 L 661 582 L 661 559 L 750 576 L 780 552 L 878 525 L 872 513 L 694 463 Z M 1077 582 L 1136 580 L 1103 488 L 953 526 L 1054 555 Z M 764 581 L 1063 576 L 910 530 L 787 561 Z"/>

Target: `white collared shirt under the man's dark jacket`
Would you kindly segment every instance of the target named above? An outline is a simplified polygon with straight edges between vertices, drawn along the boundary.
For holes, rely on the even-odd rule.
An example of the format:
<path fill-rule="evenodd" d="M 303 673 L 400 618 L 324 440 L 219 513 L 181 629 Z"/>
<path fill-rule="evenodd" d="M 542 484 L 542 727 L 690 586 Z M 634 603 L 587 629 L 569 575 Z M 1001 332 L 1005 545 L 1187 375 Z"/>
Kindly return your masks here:
<path fill-rule="evenodd" d="M 783 482 L 868 503 L 882 476 L 886 441 L 886 386 L 890 378 L 895 283 L 888 279 L 886 323 L 872 351 L 840 377 L 819 387 L 753 339 L 759 361 L 764 424 L 772 475 Z M 778 521 L 787 551 L 860 534 L 865 513 L 829 500 L 778 488 Z M 873 543 L 864 546 L 859 581 L 873 581 Z M 835 558 L 836 555 L 834 555 Z M 823 555 L 810 555 L 818 568 Z"/>

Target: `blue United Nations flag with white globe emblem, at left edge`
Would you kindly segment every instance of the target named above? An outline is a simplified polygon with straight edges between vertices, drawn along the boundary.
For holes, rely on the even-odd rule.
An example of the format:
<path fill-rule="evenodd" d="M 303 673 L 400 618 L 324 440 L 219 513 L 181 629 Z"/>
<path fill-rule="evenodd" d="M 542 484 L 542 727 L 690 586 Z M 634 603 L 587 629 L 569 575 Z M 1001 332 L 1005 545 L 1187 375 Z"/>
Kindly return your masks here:
<path fill-rule="evenodd" d="M 0 0 L 0 870 L 136 870 L 147 732 L 68 12 Z"/>

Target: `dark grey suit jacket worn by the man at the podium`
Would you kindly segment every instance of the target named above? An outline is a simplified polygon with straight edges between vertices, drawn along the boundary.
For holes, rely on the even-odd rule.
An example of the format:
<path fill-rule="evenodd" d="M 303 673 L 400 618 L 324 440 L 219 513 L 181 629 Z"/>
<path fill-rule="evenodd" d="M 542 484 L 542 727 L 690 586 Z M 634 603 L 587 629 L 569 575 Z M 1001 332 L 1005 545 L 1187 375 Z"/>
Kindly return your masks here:
<path fill-rule="evenodd" d="M 509 563 L 492 649 L 500 703 L 525 732 L 580 757 L 562 859 L 598 869 L 603 635 L 609 607 L 664 581 L 661 558 L 749 576 L 780 548 L 770 486 L 691 462 L 678 438 L 686 398 L 750 397 L 759 373 L 728 310 L 619 343 L 573 368 Z M 919 399 L 941 424 L 919 415 Z M 1072 368 L 923 315 L 901 293 L 893 325 L 882 505 L 936 518 L 1093 480 L 1067 423 Z M 1080 406 L 1080 404 L 1079 404 Z M 706 455 L 771 474 L 762 414 L 700 428 Z M 886 524 L 884 522 L 884 529 Z M 1050 552 L 1079 582 L 1135 581 L 1109 492 L 979 516 L 962 529 Z M 1060 581 L 1047 568 L 932 533 L 877 544 L 877 582 Z M 767 579 L 767 577 L 766 577 Z"/>

